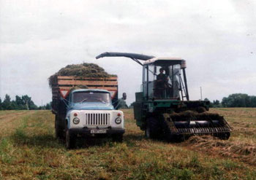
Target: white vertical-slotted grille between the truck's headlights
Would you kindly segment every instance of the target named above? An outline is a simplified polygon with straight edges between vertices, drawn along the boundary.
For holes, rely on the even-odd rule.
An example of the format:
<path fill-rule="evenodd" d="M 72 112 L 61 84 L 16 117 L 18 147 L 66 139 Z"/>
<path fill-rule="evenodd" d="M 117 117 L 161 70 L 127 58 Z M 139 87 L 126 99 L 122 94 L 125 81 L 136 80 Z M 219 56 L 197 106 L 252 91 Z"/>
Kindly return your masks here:
<path fill-rule="evenodd" d="M 110 125 L 110 114 L 86 113 L 86 125 Z"/>

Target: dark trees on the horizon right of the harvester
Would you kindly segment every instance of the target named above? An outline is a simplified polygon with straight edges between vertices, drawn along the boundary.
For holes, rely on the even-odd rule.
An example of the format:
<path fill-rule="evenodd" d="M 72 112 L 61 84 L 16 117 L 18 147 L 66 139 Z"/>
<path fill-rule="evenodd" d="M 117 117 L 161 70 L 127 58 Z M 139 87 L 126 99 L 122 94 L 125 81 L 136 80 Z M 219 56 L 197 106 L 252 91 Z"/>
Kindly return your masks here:
<path fill-rule="evenodd" d="M 205 98 L 208 101 L 208 98 Z M 222 102 L 210 101 L 210 107 L 256 107 L 256 96 L 235 93 L 222 98 Z"/>

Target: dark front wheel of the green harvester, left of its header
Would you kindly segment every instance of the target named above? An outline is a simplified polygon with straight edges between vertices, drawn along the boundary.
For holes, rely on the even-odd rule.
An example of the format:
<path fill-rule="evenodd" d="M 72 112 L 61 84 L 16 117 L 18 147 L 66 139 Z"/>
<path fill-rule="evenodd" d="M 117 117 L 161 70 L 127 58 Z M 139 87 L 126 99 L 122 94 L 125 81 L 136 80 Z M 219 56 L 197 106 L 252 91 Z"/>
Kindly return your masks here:
<path fill-rule="evenodd" d="M 160 133 L 161 133 L 161 127 L 157 118 L 148 117 L 146 121 L 146 130 L 145 130 L 146 138 L 159 138 Z"/>

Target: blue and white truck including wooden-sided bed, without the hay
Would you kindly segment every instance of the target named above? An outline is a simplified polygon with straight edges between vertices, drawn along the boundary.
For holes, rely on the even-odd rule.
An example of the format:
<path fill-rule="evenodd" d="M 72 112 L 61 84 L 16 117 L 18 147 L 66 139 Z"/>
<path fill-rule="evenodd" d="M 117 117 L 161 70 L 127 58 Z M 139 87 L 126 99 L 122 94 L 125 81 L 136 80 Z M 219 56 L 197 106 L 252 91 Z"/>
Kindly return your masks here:
<path fill-rule="evenodd" d="M 56 76 L 52 87 L 52 112 L 56 138 L 64 138 L 67 149 L 78 137 L 123 139 L 124 114 L 116 110 L 117 77 Z"/>

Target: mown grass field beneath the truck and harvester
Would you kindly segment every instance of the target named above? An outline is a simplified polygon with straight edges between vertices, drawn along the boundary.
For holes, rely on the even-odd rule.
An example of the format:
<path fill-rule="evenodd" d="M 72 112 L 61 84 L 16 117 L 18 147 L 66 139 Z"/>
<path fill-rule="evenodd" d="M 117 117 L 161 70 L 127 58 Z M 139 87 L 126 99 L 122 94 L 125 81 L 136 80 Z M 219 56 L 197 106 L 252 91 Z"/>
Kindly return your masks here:
<path fill-rule="evenodd" d="M 153 141 L 125 109 L 121 144 L 78 141 L 67 150 L 50 111 L 0 111 L 0 179 L 256 179 L 256 109 L 211 109 L 233 127 L 228 141 Z"/>

